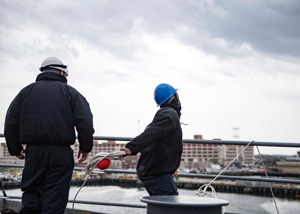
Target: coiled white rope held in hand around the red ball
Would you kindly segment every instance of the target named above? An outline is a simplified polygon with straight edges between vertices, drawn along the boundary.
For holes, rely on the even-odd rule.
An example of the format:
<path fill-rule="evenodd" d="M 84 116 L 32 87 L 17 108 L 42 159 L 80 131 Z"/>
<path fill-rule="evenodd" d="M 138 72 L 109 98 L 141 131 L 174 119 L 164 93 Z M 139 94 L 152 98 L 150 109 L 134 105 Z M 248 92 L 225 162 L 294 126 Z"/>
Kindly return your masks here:
<path fill-rule="evenodd" d="M 76 195 L 74 197 L 74 200 L 73 200 L 73 214 L 75 214 L 74 213 L 74 203 L 75 203 L 76 196 L 78 195 L 81 188 L 85 185 L 88 178 L 91 175 L 97 175 L 97 174 L 104 173 L 104 170 L 101 170 L 101 169 L 98 169 L 98 168 L 95 169 L 97 164 L 103 159 L 119 160 L 120 156 L 122 156 L 124 154 L 125 154 L 125 152 L 123 152 L 123 151 L 111 152 L 111 153 L 99 152 L 99 153 L 97 153 L 97 154 L 95 154 L 94 156 L 91 157 L 88 164 L 85 166 L 85 168 L 82 169 L 82 171 L 85 171 L 85 174 L 82 177 L 82 180 L 84 180 L 84 183 L 81 185 L 81 187 L 79 188 L 78 192 L 76 193 Z"/>

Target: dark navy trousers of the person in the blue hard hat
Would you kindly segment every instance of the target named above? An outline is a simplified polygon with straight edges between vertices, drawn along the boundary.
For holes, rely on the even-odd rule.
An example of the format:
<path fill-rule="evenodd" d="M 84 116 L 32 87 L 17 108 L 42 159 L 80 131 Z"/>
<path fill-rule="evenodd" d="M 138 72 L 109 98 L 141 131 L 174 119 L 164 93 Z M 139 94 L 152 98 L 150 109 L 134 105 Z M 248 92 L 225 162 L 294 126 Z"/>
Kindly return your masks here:
<path fill-rule="evenodd" d="M 177 187 L 171 173 L 141 181 L 149 195 L 178 195 Z"/>

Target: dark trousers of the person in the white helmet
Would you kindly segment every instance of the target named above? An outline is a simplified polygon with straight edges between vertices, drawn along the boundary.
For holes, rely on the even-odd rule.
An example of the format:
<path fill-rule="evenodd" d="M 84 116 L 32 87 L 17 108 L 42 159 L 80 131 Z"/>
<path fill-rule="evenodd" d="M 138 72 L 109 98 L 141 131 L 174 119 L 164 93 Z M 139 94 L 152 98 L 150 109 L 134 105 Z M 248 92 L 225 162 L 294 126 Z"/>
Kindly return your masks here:
<path fill-rule="evenodd" d="M 73 150 L 64 146 L 27 146 L 19 214 L 63 214 L 74 168 Z"/>

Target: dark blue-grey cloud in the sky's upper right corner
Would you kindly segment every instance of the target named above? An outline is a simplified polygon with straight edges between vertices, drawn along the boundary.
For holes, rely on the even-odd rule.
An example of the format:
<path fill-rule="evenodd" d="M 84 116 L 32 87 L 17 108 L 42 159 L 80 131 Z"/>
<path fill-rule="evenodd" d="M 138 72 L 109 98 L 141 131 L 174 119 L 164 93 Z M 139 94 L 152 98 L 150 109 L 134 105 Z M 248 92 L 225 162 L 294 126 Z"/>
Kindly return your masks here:
<path fill-rule="evenodd" d="M 212 37 L 249 43 L 261 52 L 300 56 L 299 1 L 217 1 L 226 16 L 203 16 Z"/>

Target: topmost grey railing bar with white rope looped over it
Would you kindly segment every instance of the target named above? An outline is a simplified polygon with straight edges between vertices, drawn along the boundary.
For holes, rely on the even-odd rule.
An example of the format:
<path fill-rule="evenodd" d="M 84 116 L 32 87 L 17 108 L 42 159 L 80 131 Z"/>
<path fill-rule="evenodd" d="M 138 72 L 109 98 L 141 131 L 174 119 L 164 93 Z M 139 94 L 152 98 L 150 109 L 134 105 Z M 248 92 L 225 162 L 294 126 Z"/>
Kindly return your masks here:
<path fill-rule="evenodd" d="M 0 138 L 4 138 L 4 134 L 0 134 Z M 76 139 L 78 139 L 76 135 Z M 94 140 L 107 141 L 131 141 L 130 137 L 108 137 L 108 136 L 94 136 Z M 183 143 L 193 144 L 219 144 L 219 145 L 241 145 L 247 146 L 250 141 L 224 141 L 224 140 L 197 140 L 197 139 L 182 139 Z M 300 148 L 300 143 L 283 143 L 283 142 L 261 142 L 254 141 L 251 146 L 274 146 L 274 147 L 295 147 Z"/>

